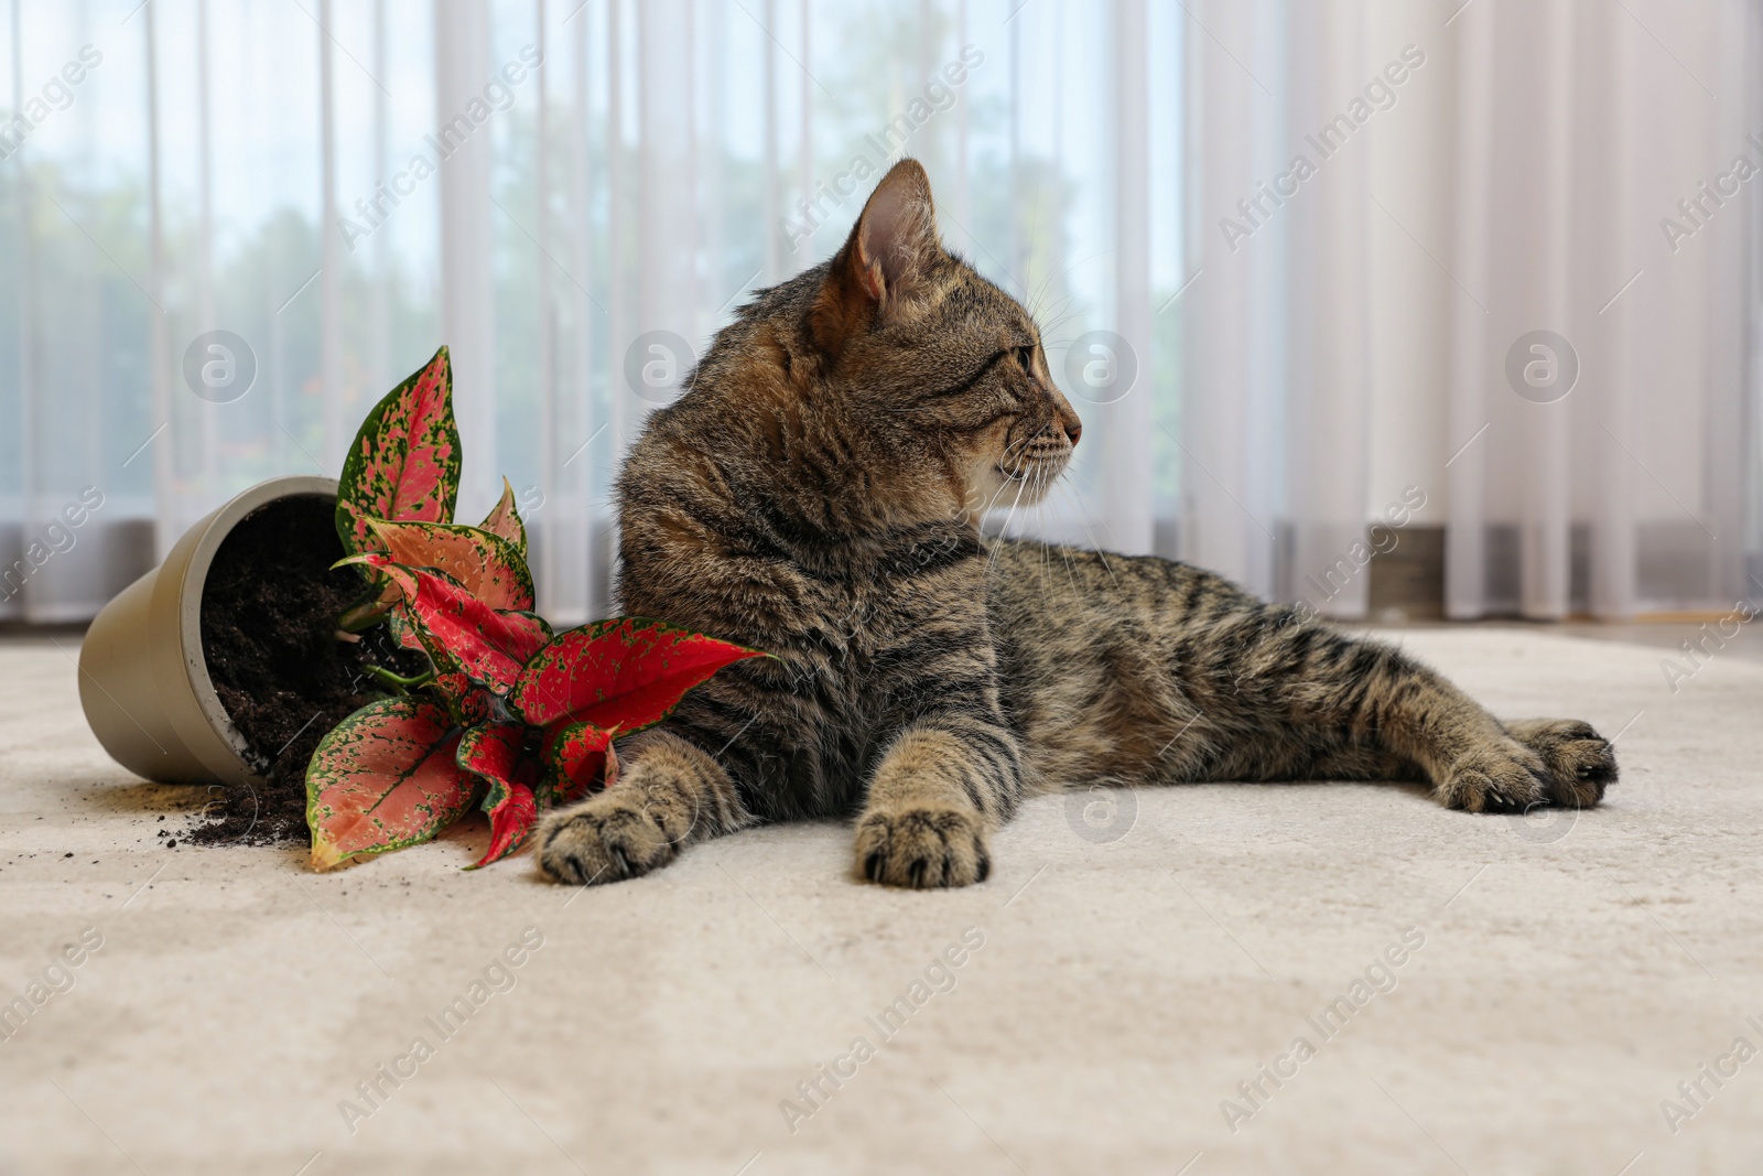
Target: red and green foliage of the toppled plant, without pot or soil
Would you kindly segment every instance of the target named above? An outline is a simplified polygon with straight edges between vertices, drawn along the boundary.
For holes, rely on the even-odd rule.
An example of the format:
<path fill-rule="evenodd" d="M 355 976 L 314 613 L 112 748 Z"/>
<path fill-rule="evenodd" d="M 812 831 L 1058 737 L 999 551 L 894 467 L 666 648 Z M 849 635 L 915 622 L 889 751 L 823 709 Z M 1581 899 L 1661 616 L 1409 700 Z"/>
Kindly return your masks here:
<path fill-rule="evenodd" d="M 338 636 L 386 626 L 418 674 L 331 728 L 307 767 L 312 866 L 434 837 L 472 808 L 476 862 L 508 857 L 539 813 L 617 779 L 612 741 L 659 723 L 725 665 L 760 656 L 659 621 L 554 633 L 534 612 L 527 534 L 506 480 L 478 527 L 451 522 L 460 446 L 446 347 L 363 421 L 337 490 L 337 534 L 365 594 Z"/>

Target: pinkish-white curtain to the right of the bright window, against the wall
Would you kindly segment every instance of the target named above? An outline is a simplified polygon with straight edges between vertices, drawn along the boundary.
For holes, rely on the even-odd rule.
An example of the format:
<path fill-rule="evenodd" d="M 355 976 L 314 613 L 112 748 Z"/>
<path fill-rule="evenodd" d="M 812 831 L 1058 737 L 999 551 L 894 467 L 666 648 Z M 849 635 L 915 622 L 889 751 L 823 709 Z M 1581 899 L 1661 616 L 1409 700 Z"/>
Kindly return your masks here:
<path fill-rule="evenodd" d="M 1416 522 L 1454 617 L 1763 594 L 1758 7 L 1188 19 L 1181 554 L 1342 617 Z"/>

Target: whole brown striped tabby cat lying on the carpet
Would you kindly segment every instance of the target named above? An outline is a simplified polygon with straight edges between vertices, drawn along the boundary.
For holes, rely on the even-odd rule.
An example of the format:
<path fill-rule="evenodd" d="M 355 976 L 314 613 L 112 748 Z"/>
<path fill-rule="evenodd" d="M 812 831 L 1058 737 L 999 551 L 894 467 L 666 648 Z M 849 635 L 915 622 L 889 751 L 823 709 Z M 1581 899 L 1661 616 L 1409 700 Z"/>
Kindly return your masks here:
<path fill-rule="evenodd" d="M 626 610 L 774 658 L 621 744 L 622 779 L 539 827 L 539 867 L 615 882 L 755 822 L 855 816 L 860 876 L 959 887 L 1024 795 L 1074 785 L 1417 778 L 1495 813 L 1615 781 L 1588 725 L 1502 723 L 1209 571 L 986 538 L 1081 434 L 1035 321 L 894 166 L 830 261 L 716 337 L 619 480 Z"/>

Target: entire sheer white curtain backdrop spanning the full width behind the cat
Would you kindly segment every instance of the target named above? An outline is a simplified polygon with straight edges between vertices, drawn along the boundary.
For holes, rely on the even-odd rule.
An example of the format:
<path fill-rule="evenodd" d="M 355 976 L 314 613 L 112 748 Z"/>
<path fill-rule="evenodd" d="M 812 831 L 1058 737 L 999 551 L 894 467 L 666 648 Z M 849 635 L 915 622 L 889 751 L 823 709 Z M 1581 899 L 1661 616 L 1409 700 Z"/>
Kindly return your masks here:
<path fill-rule="evenodd" d="M 1086 421 L 994 525 L 1331 615 L 1372 522 L 1446 527 L 1453 615 L 1756 591 L 1742 0 L 0 5 L 0 619 L 335 474 L 441 342 L 460 515 L 506 474 L 541 607 L 608 612 L 622 448 L 899 153 Z"/>

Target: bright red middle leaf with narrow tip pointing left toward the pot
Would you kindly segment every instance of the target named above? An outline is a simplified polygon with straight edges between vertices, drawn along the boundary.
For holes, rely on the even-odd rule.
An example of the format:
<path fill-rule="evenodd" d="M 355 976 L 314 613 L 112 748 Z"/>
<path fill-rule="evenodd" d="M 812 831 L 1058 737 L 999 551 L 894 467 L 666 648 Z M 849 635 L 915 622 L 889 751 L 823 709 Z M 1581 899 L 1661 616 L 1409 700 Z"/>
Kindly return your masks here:
<path fill-rule="evenodd" d="M 457 668 L 497 695 L 513 688 L 522 666 L 550 640 L 550 626 L 539 617 L 490 608 L 435 571 L 405 568 L 372 552 L 340 562 L 374 568 L 397 584 L 435 668 Z"/>

